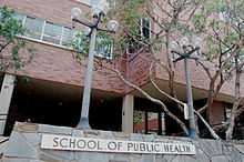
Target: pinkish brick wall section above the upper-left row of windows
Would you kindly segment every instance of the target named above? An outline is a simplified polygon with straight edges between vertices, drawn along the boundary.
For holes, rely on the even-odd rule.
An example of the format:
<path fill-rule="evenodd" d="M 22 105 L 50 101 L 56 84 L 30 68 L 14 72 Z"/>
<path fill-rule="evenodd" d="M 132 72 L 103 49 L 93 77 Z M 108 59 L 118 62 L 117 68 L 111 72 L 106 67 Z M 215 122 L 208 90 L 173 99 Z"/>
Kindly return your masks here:
<path fill-rule="evenodd" d="M 89 10 L 88 6 L 77 0 L 1 0 L 0 4 L 7 4 L 28 16 L 67 26 L 71 26 L 70 11 L 73 7 L 81 8 L 83 12 Z"/>

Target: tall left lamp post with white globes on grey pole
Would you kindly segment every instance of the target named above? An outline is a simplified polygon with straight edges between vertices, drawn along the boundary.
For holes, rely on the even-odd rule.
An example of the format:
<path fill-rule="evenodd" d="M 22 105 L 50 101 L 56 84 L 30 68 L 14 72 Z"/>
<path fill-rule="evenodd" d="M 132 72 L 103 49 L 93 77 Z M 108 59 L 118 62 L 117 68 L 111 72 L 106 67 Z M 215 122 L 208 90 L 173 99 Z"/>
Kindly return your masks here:
<path fill-rule="evenodd" d="M 84 90 L 83 90 L 83 99 L 82 99 L 82 108 L 81 108 L 81 117 L 80 121 L 77 125 L 78 129 L 91 129 L 89 124 L 89 107 L 90 107 L 90 97 L 91 97 L 91 84 L 92 84 L 92 70 L 95 54 L 95 38 L 96 31 L 108 31 L 115 32 L 119 28 L 119 23 L 115 20 L 110 20 L 108 22 L 106 29 L 100 28 L 99 24 L 102 18 L 105 16 L 105 3 L 99 3 L 98 7 L 93 8 L 93 21 L 87 21 L 82 17 L 82 11 L 79 8 L 73 8 L 71 10 L 71 19 L 72 22 L 78 22 L 87 28 L 89 28 L 88 36 L 90 37 L 89 44 L 89 58 L 88 58 L 88 68 L 84 77 Z"/>

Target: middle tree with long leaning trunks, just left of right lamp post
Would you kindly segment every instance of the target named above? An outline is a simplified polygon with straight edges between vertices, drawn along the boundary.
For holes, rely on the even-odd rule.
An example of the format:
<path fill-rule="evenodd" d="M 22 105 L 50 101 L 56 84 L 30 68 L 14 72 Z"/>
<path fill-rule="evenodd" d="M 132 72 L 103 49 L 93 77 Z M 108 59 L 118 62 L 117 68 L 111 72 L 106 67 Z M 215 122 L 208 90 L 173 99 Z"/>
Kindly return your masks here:
<path fill-rule="evenodd" d="M 175 40 L 176 37 L 185 33 L 190 33 L 187 30 L 189 26 L 191 24 L 192 18 L 196 10 L 201 7 L 203 1 L 123 1 L 121 13 L 122 22 L 124 23 L 124 37 L 122 37 L 122 54 L 125 51 L 124 49 L 128 48 L 128 43 L 131 44 L 140 44 L 140 49 L 136 51 L 138 54 L 141 52 L 150 51 L 152 64 L 151 68 L 154 67 L 153 64 L 160 64 L 162 69 L 164 69 L 169 74 L 169 87 L 170 87 L 170 94 L 160 90 L 156 83 L 153 81 L 152 72 L 151 72 L 151 82 L 155 87 L 157 91 L 160 91 L 163 95 L 166 95 L 175 103 L 177 103 L 177 108 L 181 112 L 183 112 L 184 103 L 177 100 L 176 91 L 174 87 L 174 74 L 175 74 L 175 67 L 172 60 L 172 52 L 171 52 L 171 42 Z M 138 9 L 136 8 L 138 4 Z M 134 7 L 134 8 L 131 8 Z M 156 12 L 154 12 L 156 10 Z M 124 12 L 123 12 L 124 11 Z M 140 11 L 140 12 L 139 12 Z M 139 14 L 141 13 L 141 14 Z M 187 14 L 186 14 L 187 13 Z M 141 17 L 148 17 L 152 20 L 152 23 L 159 27 L 157 31 L 151 30 L 150 32 L 153 34 L 152 39 L 144 39 L 141 37 L 141 33 L 138 29 L 141 28 L 141 23 L 139 19 Z M 124 49 L 123 49 L 124 48 Z M 135 49 L 138 47 L 134 47 Z M 164 53 L 163 57 L 166 57 L 166 61 L 163 62 L 161 59 L 157 58 L 157 53 Z M 162 57 L 162 54 L 161 54 Z M 151 70 L 150 70 L 151 71 Z M 118 75 L 122 79 L 122 75 L 116 71 Z M 161 104 L 164 112 L 171 117 L 176 123 L 180 124 L 182 130 L 184 130 L 185 134 L 187 134 L 187 129 L 185 123 L 177 117 L 174 115 L 163 103 L 160 103 L 159 99 L 152 98 L 149 93 L 140 89 L 139 87 L 134 85 L 131 82 L 125 81 L 122 79 L 126 84 L 130 87 L 139 90 L 142 92 L 149 100 L 154 103 Z M 156 100 L 156 101 L 155 101 Z M 200 113 L 196 112 L 197 115 Z M 200 117 L 201 120 L 204 120 Z M 210 125 L 206 124 L 207 129 L 211 131 L 214 138 L 218 139 L 218 136 L 211 130 Z"/>

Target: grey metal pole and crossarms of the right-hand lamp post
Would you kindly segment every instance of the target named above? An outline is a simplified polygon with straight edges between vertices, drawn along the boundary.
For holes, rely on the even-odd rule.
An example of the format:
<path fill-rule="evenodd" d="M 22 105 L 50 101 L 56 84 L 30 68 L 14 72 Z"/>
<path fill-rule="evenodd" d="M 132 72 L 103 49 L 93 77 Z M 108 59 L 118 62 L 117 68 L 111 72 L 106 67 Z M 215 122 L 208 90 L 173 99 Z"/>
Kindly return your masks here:
<path fill-rule="evenodd" d="M 183 48 L 184 49 L 184 48 Z M 195 124 L 195 118 L 194 118 L 194 108 L 193 108 L 193 97 L 192 97 L 192 83 L 191 83 L 191 71 L 189 69 L 189 59 L 194 59 L 191 58 L 191 54 L 194 53 L 195 51 L 200 50 L 200 48 L 194 48 L 191 51 L 184 51 L 183 54 L 176 51 L 172 51 L 176 54 L 180 55 L 174 62 L 177 62 L 180 60 L 184 60 L 184 69 L 185 69 L 185 82 L 186 82 L 186 95 L 187 95 L 187 107 L 189 107 L 189 123 L 190 123 L 190 129 L 189 129 L 189 136 L 190 138 L 196 138 L 196 124 Z"/>

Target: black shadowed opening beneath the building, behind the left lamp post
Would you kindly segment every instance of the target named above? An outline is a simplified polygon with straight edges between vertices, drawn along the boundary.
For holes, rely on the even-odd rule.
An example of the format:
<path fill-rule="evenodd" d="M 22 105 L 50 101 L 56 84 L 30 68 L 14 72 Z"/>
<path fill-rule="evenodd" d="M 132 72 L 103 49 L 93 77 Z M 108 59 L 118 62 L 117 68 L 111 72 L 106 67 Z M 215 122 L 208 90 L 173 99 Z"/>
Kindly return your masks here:
<path fill-rule="evenodd" d="M 79 99 L 79 98 L 78 98 Z M 121 131 L 122 99 L 93 99 L 90 107 L 92 129 Z M 14 89 L 4 135 L 9 135 L 16 121 L 75 128 L 80 120 L 81 100 L 55 99 L 22 89 Z"/>

